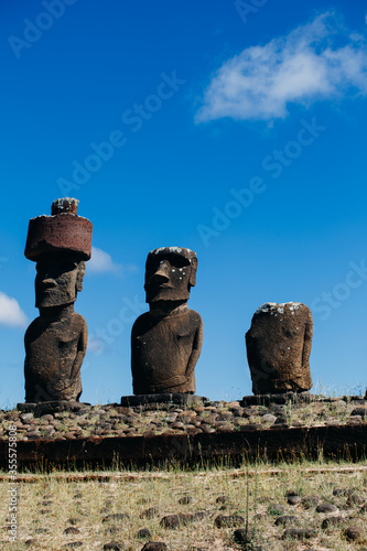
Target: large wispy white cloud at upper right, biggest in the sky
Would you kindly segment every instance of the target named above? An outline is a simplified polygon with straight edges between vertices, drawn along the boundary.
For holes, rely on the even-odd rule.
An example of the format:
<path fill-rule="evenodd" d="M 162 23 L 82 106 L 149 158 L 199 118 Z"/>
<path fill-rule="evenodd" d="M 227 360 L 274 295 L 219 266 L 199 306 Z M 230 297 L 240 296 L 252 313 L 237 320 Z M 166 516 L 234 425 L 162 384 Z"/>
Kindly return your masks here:
<path fill-rule="evenodd" d="M 196 121 L 284 118 L 289 104 L 366 93 L 366 43 L 326 12 L 225 62 L 204 93 Z"/>

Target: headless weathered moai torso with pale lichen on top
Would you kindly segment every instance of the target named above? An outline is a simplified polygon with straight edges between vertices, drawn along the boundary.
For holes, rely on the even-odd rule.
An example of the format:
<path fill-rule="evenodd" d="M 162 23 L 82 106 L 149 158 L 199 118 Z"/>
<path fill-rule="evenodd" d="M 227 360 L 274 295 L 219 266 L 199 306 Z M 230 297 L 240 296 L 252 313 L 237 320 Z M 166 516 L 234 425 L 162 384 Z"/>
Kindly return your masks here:
<path fill-rule="evenodd" d="M 255 395 L 310 390 L 312 332 L 312 314 L 301 302 L 267 302 L 256 311 L 246 333 Z"/>

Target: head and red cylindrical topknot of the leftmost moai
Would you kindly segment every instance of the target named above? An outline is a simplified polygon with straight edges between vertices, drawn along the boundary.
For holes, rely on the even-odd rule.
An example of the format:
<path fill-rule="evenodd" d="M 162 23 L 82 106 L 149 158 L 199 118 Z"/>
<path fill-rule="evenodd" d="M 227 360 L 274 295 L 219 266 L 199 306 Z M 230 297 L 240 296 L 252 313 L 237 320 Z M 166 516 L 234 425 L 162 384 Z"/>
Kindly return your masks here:
<path fill-rule="evenodd" d="M 83 289 L 85 260 L 91 256 L 91 223 L 77 216 L 78 201 L 56 199 L 51 216 L 32 218 L 25 257 L 35 261 L 35 305 L 62 306 L 76 301 Z"/>

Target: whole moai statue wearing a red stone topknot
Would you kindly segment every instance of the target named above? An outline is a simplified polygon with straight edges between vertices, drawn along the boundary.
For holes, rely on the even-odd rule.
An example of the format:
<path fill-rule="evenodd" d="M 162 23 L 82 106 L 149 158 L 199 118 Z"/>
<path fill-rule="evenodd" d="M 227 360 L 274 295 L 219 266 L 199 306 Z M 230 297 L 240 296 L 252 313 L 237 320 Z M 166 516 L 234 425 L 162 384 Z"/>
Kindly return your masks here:
<path fill-rule="evenodd" d="M 87 324 L 74 312 L 91 256 L 91 223 L 77 216 L 78 201 L 52 204 L 51 216 L 30 220 L 25 257 L 36 262 L 35 306 L 25 333 L 25 401 L 79 400 Z"/>

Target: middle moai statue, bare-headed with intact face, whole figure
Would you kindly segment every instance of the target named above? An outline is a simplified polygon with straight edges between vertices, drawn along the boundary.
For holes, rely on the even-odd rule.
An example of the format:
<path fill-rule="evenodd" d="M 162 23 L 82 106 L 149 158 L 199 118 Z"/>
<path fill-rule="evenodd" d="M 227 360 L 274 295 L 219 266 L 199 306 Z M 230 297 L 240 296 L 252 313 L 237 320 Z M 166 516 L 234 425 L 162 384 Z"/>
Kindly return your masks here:
<path fill-rule="evenodd" d="M 203 322 L 188 310 L 197 258 L 190 249 L 162 247 L 148 255 L 145 293 L 150 312 L 131 333 L 134 395 L 195 392 L 195 365 L 203 343 Z"/>

